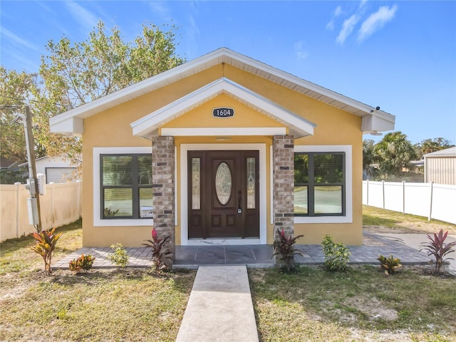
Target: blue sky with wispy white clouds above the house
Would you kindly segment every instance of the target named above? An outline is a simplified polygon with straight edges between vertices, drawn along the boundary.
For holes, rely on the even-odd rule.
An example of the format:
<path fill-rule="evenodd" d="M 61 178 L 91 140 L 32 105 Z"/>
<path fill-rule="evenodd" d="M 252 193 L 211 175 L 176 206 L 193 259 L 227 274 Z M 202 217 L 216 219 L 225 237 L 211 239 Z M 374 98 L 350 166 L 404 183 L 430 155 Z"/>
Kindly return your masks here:
<path fill-rule="evenodd" d="M 224 46 L 380 106 L 413 143 L 456 144 L 456 1 L 1 0 L 1 65 L 38 71 L 47 41 L 83 41 L 99 19 L 128 41 L 175 24 L 187 61 Z"/>

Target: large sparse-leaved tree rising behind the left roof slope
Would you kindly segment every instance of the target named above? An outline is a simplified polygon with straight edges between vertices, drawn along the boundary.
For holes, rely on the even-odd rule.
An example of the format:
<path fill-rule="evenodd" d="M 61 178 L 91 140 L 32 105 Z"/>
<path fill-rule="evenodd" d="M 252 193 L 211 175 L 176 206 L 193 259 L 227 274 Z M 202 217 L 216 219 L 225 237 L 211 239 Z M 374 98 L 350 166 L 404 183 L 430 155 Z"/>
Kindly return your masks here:
<path fill-rule="evenodd" d="M 138 83 L 184 62 L 175 54 L 177 28 L 162 28 L 144 24 L 142 35 L 133 42 L 125 42 L 118 28 L 111 28 L 110 34 L 106 33 L 105 25 L 99 21 L 85 41 L 71 43 L 68 37 L 63 37 L 56 43 L 48 41 L 48 55 L 41 57 L 38 75 L 23 73 L 22 76 L 32 78 L 33 87 L 27 88 L 25 92 L 15 92 L 16 88 L 21 90 L 21 82 L 9 82 L 11 93 L 14 94 L 12 97 L 19 98 L 31 106 L 35 141 L 37 145 L 43 146 L 46 155 L 65 153 L 71 160 L 76 161 L 81 155 L 82 145 L 81 138 L 68 138 L 50 133 L 49 117 Z M 4 83 L 6 81 L 2 77 L 1 100 L 12 100 L 3 97 Z M 36 86 L 38 84 L 39 87 Z M 21 100 L 16 102 L 21 103 Z M 20 138 L 17 138 L 14 145 L 19 144 L 19 140 Z M 25 152 L 22 146 L 17 146 L 17 150 L 22 149 Z"/>

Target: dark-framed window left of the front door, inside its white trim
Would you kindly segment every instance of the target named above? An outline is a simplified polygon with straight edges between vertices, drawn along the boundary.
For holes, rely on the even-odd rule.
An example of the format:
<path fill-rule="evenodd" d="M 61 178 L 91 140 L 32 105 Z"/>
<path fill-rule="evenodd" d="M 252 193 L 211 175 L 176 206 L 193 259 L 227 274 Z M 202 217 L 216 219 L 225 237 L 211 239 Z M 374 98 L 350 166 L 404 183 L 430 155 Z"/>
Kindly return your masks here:
<path fill-rule="evenodd" d="M 100 218 L 152 217 L 152 155 L 100 154 Z"/>

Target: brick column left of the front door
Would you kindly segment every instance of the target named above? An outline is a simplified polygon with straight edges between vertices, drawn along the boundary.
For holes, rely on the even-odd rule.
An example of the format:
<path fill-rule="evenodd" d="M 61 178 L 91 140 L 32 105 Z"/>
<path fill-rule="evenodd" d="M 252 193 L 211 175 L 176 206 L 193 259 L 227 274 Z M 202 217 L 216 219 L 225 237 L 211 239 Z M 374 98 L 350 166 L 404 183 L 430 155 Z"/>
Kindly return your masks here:
<path fill-rule="evenodd" d="M 154 228 L 159 238 L 171 235 L 168 248 L 175 257 L 175 147 L 174 137 L 152 138 Z M 172 266 L 172 265 L 168 265 Z"/>

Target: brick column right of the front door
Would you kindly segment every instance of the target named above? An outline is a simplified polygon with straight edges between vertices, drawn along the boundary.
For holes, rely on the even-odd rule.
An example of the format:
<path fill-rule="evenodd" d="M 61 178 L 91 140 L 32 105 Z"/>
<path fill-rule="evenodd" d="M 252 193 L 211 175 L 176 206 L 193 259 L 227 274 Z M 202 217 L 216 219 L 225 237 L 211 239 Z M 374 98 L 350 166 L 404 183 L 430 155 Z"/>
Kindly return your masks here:
<path fill-rule="evenodd" d="M 274 135 L 272 158 L 274 167 L 274 237 L 276 228 L 294 235 L 294 138 Z"/>

